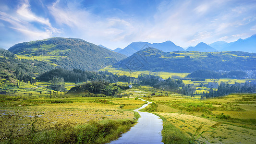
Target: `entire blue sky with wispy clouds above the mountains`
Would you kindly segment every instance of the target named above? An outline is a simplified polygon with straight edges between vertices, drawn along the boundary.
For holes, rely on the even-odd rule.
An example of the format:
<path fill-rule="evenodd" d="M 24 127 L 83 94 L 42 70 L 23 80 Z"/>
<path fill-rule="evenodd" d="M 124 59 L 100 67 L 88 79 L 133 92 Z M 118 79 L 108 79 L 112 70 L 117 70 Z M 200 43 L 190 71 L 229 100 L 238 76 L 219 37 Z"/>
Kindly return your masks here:
<path fill-rule="evenodd" d="M 0 47 L 50 37 L 186 48 L 256 34 L 256 0 L 0 0 Z"/>

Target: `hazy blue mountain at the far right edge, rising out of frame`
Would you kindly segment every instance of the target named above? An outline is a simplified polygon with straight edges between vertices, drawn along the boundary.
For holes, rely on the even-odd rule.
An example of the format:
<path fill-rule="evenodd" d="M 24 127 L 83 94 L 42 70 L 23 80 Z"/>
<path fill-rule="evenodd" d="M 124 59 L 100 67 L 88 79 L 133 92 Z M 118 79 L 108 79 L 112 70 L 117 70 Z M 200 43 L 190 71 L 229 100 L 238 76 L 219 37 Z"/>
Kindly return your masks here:
<path fill-rule="evenodd" d="M 245 39 L 238 39 L 231 43 L 228 47 L 224 47 L 221 51 L 246 51 L 256 53 L 256 35 Z"/>

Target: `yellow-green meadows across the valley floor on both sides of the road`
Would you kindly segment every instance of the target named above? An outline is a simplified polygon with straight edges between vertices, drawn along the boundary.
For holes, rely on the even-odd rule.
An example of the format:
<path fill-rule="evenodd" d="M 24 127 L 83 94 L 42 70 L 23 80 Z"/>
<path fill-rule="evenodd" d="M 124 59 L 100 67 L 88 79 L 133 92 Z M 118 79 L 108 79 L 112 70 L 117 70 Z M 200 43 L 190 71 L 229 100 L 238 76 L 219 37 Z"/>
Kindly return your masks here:
<path fill-rule="evenodd" d="M 183 80 L 186 81 L 192 82 Z M 5 80 L 1 82 L 5 83 Z M 144 111 L 153 112 L 163 120 L 165 144 L 187 144 L 194 134 L 198 136 L 217 122 L 221 125 L 215 130 L 207 130 L 210 132 L 205 132 L 197 140 L 215 144 L 256 142 L 255 94 L 200 100 L 200 96 L 183 96 L 150 86 L 133 85 L 132 89 L 118 93 L 123 95 L 122 98 L 82 97 L 51 90 L 48 82 L 29 84 L 17 81 L 17 84 L 5 89 L 8 95 L 0 95 L 2 143 L 108 143 L 128 131 L 138 119 L 138 114 L 132 109 L 145 103 L 138 97 L 153 102 Z M 195 85 L 196 91 L 208 91 L 206 85 L 199 87 L 198 84 Z M 64 84 L 67 90 L 75 85 L 72 82 Z M 111 130 L 107 129 L 110 125 Z"/>

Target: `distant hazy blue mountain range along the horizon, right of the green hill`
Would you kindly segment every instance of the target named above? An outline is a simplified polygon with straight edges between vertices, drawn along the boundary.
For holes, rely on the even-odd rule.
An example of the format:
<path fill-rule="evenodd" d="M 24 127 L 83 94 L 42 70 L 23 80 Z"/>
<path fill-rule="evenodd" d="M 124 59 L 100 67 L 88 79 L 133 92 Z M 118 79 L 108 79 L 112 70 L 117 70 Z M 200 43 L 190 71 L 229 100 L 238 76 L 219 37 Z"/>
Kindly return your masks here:
<path fill-rule="evenodd" d="M 102 45 L 99 45 L 102 48 L 106 48 Z M 207 45 L 206 43 L 200 42 L 195 47 L 182 48 L 175 45 L 171 41 L 166 41 L 162 43 L 148 43 L 148 42 L 132 42 L 125 48 L 116 48 L 115 52 L 122 53 L 126 56 L 131 56 L 135 52 L 145 49 L 145 48 L 158 48 L 164 52 L 172 52 L 172 51 L 200 51 L 200 52 L 214 52 L 214 51 L 245 51 L 245 52 L 253 52 L 256 53 L 256 35 L 248 37 L 246 39 L 238 39 L 235 42 L 225 42 L 225 41 L 217 41 L 212 44 Z"/>

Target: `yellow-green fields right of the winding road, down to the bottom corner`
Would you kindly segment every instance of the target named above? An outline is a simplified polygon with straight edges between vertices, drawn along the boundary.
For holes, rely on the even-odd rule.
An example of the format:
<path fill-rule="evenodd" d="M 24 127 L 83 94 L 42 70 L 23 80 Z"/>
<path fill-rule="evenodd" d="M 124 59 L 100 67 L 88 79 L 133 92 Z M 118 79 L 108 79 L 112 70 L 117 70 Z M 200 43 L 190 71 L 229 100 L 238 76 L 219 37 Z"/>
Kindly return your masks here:
<path fill-rule="evenodd" d="M 148 106 L 190 138 L 196 133 L 207 144 L 256 143 L 256 95 L 232 94 L 214 99 L 199 100 L 181 95 L 145 98 L 157 104 Z M 154 109 L 155 108 L 155 109 Z M 217 122 L 216 130 L 209 127 Z"/>

